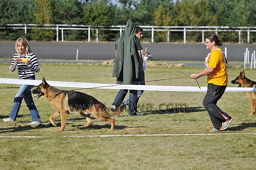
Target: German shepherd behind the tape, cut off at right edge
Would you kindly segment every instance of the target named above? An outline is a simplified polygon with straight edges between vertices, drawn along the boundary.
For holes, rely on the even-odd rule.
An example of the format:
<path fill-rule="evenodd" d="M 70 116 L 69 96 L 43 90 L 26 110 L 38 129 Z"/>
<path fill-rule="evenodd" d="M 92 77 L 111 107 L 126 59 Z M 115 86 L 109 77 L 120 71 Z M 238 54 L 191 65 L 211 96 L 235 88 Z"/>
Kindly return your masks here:
<path fill-rule="evenodd" d="M 245 77 L 244 71 L 236 79 L 231 81 L 232 84 L 238 84 L 236 87 L 241 88 L 256 88 L 256 82 Z M 256 92 L 246 92 L 246 96 L 251 102 L 251 112 L 249 115 L 256 113 Z"/>

